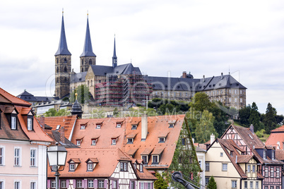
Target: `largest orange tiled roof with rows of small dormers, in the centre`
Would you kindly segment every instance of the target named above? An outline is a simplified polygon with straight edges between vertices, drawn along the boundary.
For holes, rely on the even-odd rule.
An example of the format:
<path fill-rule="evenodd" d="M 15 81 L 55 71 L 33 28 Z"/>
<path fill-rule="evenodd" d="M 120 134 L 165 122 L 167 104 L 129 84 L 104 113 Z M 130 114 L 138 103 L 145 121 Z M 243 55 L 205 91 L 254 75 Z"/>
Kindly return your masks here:
<path fill-rule="evenodd" d="M 141 154 L 151 152 L 162 153 L 162 158 L 158 165 L 151 165 L 150 169 L 168 168 L 172 163 L 172 157 L 176 147 L 176 142 L 179 138 L 182 123 L 184 123 L 184 115 L 177 115 L 177 120 L 174 128 L 169 128 L 171 116 L 149 116 L 148 117 L 148 135 L 146 141 L 141 142 L 141 117 L 126 117 L 122 122 L 121 128 L 117 128 L 117 121 L 122 121 L 122 118 L 97 118 L 97 119 L 78 119 L 73 130 L 71 142 L 75 143 L 76 139 L 83 138 L 81 142 L 82 148 L 111 148 L 112 138 L 118 136 L 116 147 L 119 147 L 123 152 L 135 154 L 134 159 L 141 159 Z M 102 122 L 103 121 L 103 122 Z M 88 122 L 88 123 L 86 123 Z M 81 123 L 86 123 L 85 129 L 81 128 Z M 102 123 L 100 129 L 96 129 L 96 123 Z M 131 125 L 137 124 L 137 129 L 132 130 Z M 69 128 L 70 129 L 70 128 Z M 159 143 L 160 133 L 168 132 L 165 142 Z M 126 144 L 126 136 L 134 135 L 133 144 Z M 91 140 L 98 138 L 96 145 L 91 145 Z M 161 149 L 164 149 L 161 152 Z M 135 153 L 134 153 L 135 152 Z M 151 157 L 149 162 L 152 162 Z"/>

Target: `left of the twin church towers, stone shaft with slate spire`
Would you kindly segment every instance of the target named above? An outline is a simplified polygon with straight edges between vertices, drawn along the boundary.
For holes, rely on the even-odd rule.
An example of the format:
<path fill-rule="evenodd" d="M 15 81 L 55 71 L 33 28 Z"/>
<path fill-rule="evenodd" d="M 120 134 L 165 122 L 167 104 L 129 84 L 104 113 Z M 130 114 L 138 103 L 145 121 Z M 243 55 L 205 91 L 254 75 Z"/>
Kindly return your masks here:
<path fill-rule="evenodd" d="M 61 98 L 64 97 L 66 94 L 69 94 L 70 73 L 71 73 L 71 53 L 68 50 L 66 42 L 63 11 L 62 11 L 59 47 L 54 56 L 55 56 L 55 96 Z"/>

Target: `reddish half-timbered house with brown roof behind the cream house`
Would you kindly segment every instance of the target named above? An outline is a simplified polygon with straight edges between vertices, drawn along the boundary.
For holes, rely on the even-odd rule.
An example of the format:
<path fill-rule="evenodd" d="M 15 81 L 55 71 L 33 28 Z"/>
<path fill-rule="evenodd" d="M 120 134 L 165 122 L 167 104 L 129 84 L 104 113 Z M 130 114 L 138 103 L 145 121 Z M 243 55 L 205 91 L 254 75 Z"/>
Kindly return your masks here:
<path fill-rule="evenodd" d="M 264 177 L 263 189 L 280 189 L 282 185 L 283 162 L 276 159 L 275 147 L 266 146 L 254 133 L 254 126 L 243 128 L 231 125 L 221 137 L 232 139 L 244 151 L 254 154 L 260 162 L 257 170 Z"/>

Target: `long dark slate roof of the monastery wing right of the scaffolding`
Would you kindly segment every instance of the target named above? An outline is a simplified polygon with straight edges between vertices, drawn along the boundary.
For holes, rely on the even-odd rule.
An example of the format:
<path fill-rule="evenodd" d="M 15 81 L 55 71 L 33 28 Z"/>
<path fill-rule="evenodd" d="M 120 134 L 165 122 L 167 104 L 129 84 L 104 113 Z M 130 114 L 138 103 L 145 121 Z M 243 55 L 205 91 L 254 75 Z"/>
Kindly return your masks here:
<path fill-rule="evenodd" d="M 232 75 L 220 75 L 210 78 L 167 78 L 153 77 L 146 75 L 146 83 L 153 83 L 153 90 L 176 90 L 176 91 L 206 91 L 218 90 L 223 88 L 247 89 L 239 83 Z"/>

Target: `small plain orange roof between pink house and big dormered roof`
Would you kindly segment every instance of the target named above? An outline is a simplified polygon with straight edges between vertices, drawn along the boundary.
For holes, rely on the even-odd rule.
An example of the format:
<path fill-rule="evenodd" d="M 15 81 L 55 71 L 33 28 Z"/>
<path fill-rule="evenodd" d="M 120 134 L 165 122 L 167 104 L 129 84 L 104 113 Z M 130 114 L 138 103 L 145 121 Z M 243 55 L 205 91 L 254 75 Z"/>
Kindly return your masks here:
<path fill-rule="evenodd" d="M 72 128 L 76 123 L 77 116 L 54 116 L 54 117 L 45 117 L 45 124 L 51 126 L 52 130 L 56 130 L 57 126 L 65 128 L 65 137 L 69 139 Z"/>

